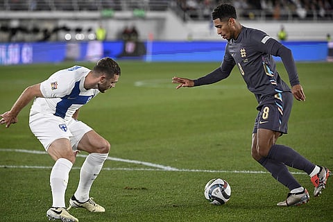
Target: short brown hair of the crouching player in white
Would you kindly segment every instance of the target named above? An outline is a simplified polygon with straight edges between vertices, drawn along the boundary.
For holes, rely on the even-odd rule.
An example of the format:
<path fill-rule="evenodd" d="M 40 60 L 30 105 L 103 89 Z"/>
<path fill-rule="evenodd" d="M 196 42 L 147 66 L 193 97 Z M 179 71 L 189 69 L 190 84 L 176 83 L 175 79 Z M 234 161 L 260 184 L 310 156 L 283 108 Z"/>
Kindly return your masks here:
<path fill-rule="evenodd" d="M 113 78 L 114 75 L 120 76 L 121 74 L 118 63 L 109 57 L 101 58 L 94 66 L 93 71 L 96 74 L 105 74 L 108 78 Z"/>

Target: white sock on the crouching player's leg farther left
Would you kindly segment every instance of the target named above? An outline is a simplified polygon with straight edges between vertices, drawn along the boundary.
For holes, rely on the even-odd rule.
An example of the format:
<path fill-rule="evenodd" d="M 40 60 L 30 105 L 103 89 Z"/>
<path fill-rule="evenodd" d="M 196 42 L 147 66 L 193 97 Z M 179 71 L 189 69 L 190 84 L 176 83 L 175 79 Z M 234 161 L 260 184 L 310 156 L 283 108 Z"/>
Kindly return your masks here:
<path fill-rule="evenodd" d="M 65 191 L 73 164 L 65 159 L 60 158 L 53 165 L 50 175 L 50 185 L 52 191 L 52 207 L 65 207 Z"/>

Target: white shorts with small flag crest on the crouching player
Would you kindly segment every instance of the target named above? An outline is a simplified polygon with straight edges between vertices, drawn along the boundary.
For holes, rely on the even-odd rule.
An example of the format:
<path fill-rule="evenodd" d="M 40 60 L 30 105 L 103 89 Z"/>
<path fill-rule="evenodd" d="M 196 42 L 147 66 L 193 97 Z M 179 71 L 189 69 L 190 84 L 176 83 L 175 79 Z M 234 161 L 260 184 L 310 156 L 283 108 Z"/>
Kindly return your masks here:
<path fill-rule="evenodd" d="M 80 142 L 83 135 L 92 130 L 82 121 L 75 119 L 65 121 L 65 119 L 53 114 L 40 112 L 30 113 L 29 126 L 31 132 L 40 140 L 46 151 L 53 141 L 60 138 L 69 139 L 73 151 L 76 151 L 78 142 Z"/>

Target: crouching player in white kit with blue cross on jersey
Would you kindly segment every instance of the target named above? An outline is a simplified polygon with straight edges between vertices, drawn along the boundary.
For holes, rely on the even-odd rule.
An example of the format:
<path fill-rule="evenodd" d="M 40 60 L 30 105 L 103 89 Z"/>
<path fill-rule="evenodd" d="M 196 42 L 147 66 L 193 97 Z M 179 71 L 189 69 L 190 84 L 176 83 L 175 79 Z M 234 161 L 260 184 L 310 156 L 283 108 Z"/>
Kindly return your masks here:
<path fill-rule="evenodd" d="M 56 161 L 50 175 L 53 203 L 46 212 L 50 220 L 78 221 L 67 211 L 71 207 L 83 207 L 89 212 L 105 211 L 89 197 L 89 191 L 108 157 L 110 143 L 78 121 L 78 111 L 99 92 L 115 87 L 120 74 L 119 65 L 111 58 L 99 60 L 92 70 L 80 66 L 62 69 L 42 83 L 27 87 L 11 110 L 0 115 L 0 124 L 6 124 L 8 128 L 17 122 L 19 112 L 34 99 L 29 126 Z M 66 209 L 69 171 L 78 151 L 86 151 L 89 155 L 81 167 L 78 188 Z"/>

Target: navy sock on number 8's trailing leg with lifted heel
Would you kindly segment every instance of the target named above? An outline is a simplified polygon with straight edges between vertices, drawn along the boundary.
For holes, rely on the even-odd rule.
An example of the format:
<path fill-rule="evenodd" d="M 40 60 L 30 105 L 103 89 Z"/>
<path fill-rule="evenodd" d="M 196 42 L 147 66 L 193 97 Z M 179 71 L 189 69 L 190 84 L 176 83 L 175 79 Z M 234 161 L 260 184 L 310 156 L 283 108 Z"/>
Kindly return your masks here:
<path fill-rule="evenodd" d="M 277 162 L 283 162 L 289 167 L 305 171 L 307 174 L 310 174 L 314 170 L 314 167 L 316 167 L 315 164 L 309 162 L 309 160 L 292 148 L 284 145 L 274 144 L 268 152 L 267 157 Z"/>

